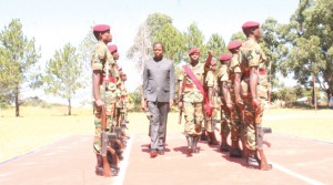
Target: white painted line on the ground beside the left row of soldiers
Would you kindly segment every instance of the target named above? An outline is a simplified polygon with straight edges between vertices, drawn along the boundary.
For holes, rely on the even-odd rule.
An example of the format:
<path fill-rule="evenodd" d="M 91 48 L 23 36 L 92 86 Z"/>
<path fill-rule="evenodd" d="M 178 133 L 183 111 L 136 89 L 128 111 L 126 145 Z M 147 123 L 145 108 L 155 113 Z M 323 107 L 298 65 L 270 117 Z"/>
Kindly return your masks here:
<path fill-rule="evenodd" d="M 119 172 L 118 176 L 113 178 L 113 182 L 112 182 L 112 184 L 114 184 L 114 185 L 123 185 L 123 181 L 124 181 L 127 168 L 128 168 L 129 161 L 130 161 L 130 154 L 132 151 L 133 140 L 134 140 L 134 134 L 131 134 L 130 140 L 128 140 L 128 143 L 127 143 L 127 148 L 123 152 L 123 161 L 119 165 L 120 172 Z"/>

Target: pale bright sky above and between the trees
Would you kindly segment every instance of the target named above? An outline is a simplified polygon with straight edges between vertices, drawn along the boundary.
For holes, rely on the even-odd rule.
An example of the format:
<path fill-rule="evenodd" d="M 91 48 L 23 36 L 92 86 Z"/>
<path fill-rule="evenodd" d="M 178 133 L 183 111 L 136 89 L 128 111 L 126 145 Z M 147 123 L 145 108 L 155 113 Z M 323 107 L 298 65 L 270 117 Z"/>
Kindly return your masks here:
<path fill-rule="evenodd" d="M 36 39 L 36 45 L 41 48 L 40 62 L 46 63 L 65 43 L 78 47 L 94 24 L 109 24 L 112 43 L 120 52 L 119 63 L 128 74 L 127 86 L 133 91 L 141 82 L 135 63 L 125 55 L 139 25 L 149 14 L 170 16 L 180 31 L 186 31 L 195 22 L 206 40 L 212 33 L 219 33 L 229 42 L 245 21 L 263 23 L 274 18 L 287 23 L 297 4 L 299 0 L 0 0 L 0 31 L 12 19 L 20 19 L 24 35 Z M 286 79 L 284 83 L 294 81 Z M 49 97 L 38 90 L 27 94 Z M 84 95 L 78 95 L 74 103 L 91 97 L 90 93 L 81 94 Z"/>

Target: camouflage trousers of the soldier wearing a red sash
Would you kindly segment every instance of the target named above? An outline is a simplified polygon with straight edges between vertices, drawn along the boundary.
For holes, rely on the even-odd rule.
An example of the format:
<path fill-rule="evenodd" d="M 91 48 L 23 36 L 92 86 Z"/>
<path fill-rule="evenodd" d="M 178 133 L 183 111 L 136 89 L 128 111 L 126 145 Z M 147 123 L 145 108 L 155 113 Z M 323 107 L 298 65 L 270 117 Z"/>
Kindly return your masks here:
<path fill-rule="evenodd" d="M 185 136 L 201 135 L 201 126 L 204 117 L 202 102 L 183 102 L 183 111 L 185 116 Z"/>

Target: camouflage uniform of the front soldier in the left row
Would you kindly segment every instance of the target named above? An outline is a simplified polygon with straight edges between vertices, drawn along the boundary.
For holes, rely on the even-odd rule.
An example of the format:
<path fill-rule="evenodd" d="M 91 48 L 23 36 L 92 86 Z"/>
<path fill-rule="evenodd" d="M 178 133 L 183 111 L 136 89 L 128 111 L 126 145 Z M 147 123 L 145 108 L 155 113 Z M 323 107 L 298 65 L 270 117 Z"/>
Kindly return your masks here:
<path fill-rule="evenodd" d="M 104 42 L 99 41 L 95 47 L 94 50 L 92 52 L 92 59 L 91 59 L 91 68 L 92 71 L 101 71 L 101 73 L 103 75 L 105 75 L 105 70 L 107 70 L 107 65 L 111 65 L 114 63 L 113 58 L 111 56 L 110 52 L 108 51 L 108 48 L 105 45 Z M 114 101 L 115 101 L 115 96 L 114 96 L 114 91 L 115 91 L 115 80 L 114 80 L 114 72 L 113 69 L 110 68 L 109 69 L 109 86 L 108 86 L 108 91 L 105 91 L 105 88 L 102 85 L 102 81 L 100 83 L 100 93 L 101 93 L 101 100 L 105 103 L 107 106 L 107 122 L 108 129 L 111 129 L 111 124 L 113 122 L 113 105 L 114 105 Z M 104 76 L 105 78 L 105 76 Z M 95 114 L 95 119 L 94 119 L 94 127 L 95 127 L 95 132 L 94 132 L 94 141 L 93 141 L 93 148 L 95 153 L 100 153 L 101 151 L 101 110 L 97 109 L 94 105 L 94 114 Z"/>

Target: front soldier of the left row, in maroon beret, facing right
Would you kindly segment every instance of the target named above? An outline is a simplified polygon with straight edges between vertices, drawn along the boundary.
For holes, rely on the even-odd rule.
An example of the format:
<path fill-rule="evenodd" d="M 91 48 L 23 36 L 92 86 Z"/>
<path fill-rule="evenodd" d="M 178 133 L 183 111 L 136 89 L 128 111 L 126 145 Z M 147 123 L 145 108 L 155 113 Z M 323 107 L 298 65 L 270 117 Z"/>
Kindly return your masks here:
<path fill-rule="evenodd" d="M 95 125 L 95 134 L 94 134 L 94 142 L 93 142 L 93 150 L 97 155 L 97 166 L 95 166 L 95 173 L 97 175 L 101 175 L 101 171 L 103 171 L 103 162 L 101 156 L 101 119 L 102 119 L 102 107 L 107 106 L 107 115 L 108 115 L 108 129 L 110 130 L 111 125 L 111 97 L 112 96 L 112 90 L 114 90 L 115 85 L 115 79 L 110 73 L 109 76 L 105 74 L 109 73 L 108 65 L 111 68 L 114 66 L 114 61 L 108 52 L 107 44 L 112 41 L 112 35 L 110 33 L 110 27 L 105 24 L 98 24 L 93 27 L 93 34 L 95 39 L 98 40 L 98 43 L 94 47 L 94 50 L 92 52 L 91 58 L 91 68 L 92 68 L 92 88 L 93 88 L 93 97 L 94 97 L 94 125 Z M 107 72 L 108 71 L 108 72 Z M 111 148 L 112 152 L 112 162 L 113 165 L 118 164 L 118 158 L 115 154 L 115 151 Z M 113 166 L 113 168 L 118 168 L 118 166 Z M 117 174 L 117 171 L 113 171 L 113 174 Z"/>

